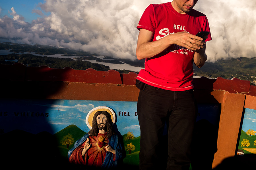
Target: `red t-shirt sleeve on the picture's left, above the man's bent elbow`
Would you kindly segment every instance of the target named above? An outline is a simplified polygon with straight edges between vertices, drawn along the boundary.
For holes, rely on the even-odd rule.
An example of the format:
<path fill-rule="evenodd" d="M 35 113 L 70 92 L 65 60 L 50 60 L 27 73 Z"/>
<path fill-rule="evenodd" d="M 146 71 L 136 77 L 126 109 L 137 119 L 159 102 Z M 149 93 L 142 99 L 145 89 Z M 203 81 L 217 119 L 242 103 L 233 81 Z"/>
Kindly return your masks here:
<path fill-rule="evenodd" d="M 154 20 L 154 6 L 150 4 L 144 11 L 137 25 L 137 29 L 146 29 L 148 31 L 154 32 L 156 29 L 156 24 Z"/>

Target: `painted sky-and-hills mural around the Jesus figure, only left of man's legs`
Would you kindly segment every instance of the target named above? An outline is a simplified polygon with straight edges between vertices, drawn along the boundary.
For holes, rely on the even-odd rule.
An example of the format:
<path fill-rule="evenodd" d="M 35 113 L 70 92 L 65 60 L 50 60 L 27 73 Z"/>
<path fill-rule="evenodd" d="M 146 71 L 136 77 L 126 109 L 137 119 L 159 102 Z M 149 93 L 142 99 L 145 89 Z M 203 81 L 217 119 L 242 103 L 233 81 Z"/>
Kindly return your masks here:
<path fill-rule="evenodd" d="M 5 100 L 0 104 L 1 137 L 25 137 L 30 134 L 52 136 L 57 145 L 57 156 L 68 158 L 75 142 L 92 128 L 88 124 L 88 113 L 98 107 L 108 108 L 112 113 L 113 128 L 121 137 L 121 148 L 129 165 L 139 164 L 140 129 L 137 118 L 137 102 L 126 101 L 82 101 L 82 100 Z M 40 137 L 39 137 L 40 138 Z M 44 137 L 45 139 L 45 137 Z M 31 140 L 27 143 L 31 144 Z M 10 142 L 8 141 L 9 145 Z M 41 141 L 41 140 L 40 140 Z M 51 141 L 47 141 L 49 145 Z M 36 141 L 38 143 L 38 141 Z M 33 152 L 33 145 L 29 152 Z M 53 146 L 54 147 L 54 146 Z M 46 148 L 47 149 L 47 148 Z M 27 151 L 26 151 L 27 152 Z M 47 153 L 46 153 L 47 154 Z M 55 153 L 54 153 L 55 154 Z M 51 154 L 52 155 L 52 154 Z"/>

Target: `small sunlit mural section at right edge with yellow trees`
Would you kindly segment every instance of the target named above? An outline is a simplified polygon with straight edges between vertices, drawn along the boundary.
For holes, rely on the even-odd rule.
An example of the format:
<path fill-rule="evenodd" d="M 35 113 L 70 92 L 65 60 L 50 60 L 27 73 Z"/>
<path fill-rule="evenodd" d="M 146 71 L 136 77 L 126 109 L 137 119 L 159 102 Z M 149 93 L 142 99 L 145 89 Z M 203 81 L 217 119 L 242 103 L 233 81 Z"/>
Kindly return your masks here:
<path fill-rule="evenodd" d="M 238 155 L 256 154 L 256 110 L 245 108 Z"/>

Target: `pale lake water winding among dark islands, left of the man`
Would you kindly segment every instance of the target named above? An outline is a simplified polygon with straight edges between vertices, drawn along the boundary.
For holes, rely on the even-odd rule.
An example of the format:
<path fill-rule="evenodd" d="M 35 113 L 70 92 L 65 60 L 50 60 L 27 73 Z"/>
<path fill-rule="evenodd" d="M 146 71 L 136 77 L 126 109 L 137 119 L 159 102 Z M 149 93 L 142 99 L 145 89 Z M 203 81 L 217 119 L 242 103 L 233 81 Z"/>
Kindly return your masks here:
<path fill-rule="evenodd" d="M 0 55 L 8 55 L 12 54 L 13 52 L 10 52 L 9 50 L 0 50 Z M 28 52 L 24 53 L 18 53 L 18 54 L 28 54 Z M 74 59 L 76 56 L 61 56 L 62 54 L 54 54 L 54 55 L 40 55 L 40 54 L 35 54 L 34 52 L 31 52 L 30 54 L 33 54 L 35 56 L 47 56 L 47 57 L 57 57 L 57 58 L 72 58 Z M 97 56 L 97 58 L 104 59 L 104 56 Z M 76 59 L 74 59 L 76 60 Z M 106 59 L 109 60 L 109 59 Z M 85 60 L 89 61 L 91 63 L 98 63 L 98 64 L 103 64 L 106 66 L 109 66 L 110 69 L 119 69 L 119 70 L 131 70 L 131 71 L 140 71 L 141 69 L 144 69 L 143 67 L 134 67 L 129 64 L 112 64 L 112 63 L 103 63 L 103 62 L 96 62 L 96 60 Z"/>

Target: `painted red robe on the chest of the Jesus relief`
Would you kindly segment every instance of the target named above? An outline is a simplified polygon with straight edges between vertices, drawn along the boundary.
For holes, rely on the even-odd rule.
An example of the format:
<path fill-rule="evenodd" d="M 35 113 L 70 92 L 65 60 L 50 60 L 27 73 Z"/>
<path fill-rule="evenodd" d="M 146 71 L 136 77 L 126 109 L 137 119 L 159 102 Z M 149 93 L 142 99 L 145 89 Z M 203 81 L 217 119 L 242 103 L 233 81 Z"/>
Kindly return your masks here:
<path fill-rule="evenodd" d="M 104 137 L 103 143 L 104 145 L 108 145 L 107 133 L 98 133 L 98 136 L 89 136 L 89 143 L 91 143 L 91 147 L 87 150 L 86 154 L 82 156 L 82 150 L 84 149 L 84 144 L 86 141 L 85 140 L 72 152 L 71 156 L 69 157 L 69 162 L 94 167 L 101 167 L 105 160 L 107 151 L 105 150 L 105 146 L 100 148 L 100 146 L 98 145 L 98 143 L 100 143 L 99 137 Z M 114 158 L 115 156 L 113 155 L 113 159 Z"/>

